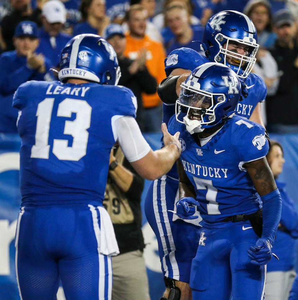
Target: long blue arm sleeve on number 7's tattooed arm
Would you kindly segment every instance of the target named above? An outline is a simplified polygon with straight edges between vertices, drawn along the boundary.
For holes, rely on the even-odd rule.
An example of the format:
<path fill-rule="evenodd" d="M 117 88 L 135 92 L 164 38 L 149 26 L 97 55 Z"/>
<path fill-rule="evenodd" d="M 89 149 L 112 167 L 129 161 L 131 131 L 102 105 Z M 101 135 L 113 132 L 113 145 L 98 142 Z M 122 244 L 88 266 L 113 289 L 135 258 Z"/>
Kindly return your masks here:
<path fill-rule="evenodd" d="M 282 197 L 279 190 L 261 197 L 263 201 L 263 233 L 262 238 L 269 239 L 273 246 L 278 223 L 282 212 Z"/>

